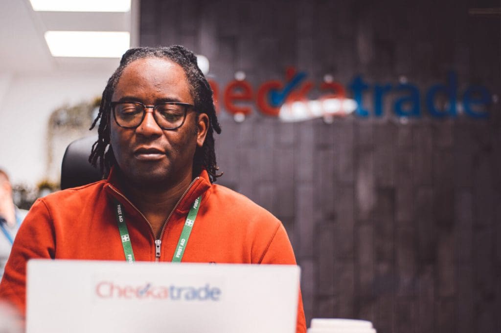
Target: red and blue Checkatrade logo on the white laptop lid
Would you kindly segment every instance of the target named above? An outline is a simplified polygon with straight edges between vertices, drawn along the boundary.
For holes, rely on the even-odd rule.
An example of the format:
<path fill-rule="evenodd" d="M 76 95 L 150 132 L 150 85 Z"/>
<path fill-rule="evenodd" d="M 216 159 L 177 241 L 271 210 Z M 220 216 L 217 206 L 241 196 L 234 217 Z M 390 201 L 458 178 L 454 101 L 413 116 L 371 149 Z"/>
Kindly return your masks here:
<path fill-rule="evenodd" d="M 108 280 L 96 283 L 95 294 L 99 299 L 219 301 L 221 288 L 210 283 L 193 286 L 152 282 L 132 284 Z"/>

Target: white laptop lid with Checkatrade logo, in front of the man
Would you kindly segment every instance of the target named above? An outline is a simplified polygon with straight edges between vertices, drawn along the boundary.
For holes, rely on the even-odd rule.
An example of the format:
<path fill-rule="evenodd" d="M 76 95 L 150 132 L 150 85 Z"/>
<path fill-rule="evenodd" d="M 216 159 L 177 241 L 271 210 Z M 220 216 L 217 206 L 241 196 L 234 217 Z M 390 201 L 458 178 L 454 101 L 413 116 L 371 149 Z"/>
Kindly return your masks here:
<path fill-rule="evenodd" d="M 296 331 L 295 265 L 28 262 L 27 332 Z"/>

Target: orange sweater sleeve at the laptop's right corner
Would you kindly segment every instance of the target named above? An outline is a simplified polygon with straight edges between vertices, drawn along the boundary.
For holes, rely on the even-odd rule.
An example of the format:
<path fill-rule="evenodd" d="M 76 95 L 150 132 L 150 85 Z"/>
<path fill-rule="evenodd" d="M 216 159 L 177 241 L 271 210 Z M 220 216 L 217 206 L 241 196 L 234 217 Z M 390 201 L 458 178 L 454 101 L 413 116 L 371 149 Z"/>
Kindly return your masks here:
<path fill-rule="evenodd" d="M 291 242 L 282 223 L 279 222 L 278 228 L 259 262 L 263 264 L 296 264 Z M 301 289 L 299 290 L 298 297 L 296 333 L 306 333 L 306 319 Z"/>

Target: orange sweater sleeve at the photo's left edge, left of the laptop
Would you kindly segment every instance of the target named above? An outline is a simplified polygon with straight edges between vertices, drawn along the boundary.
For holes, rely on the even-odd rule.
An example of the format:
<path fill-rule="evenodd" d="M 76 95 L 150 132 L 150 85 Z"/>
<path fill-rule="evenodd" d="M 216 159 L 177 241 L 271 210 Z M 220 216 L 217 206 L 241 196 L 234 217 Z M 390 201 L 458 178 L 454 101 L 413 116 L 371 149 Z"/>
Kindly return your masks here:
<path fill-rule="evenodd" d="M 54 227 L 49 209 L 38 199 L 21 224 L 0 282 L 0 299 L 26 313 L 26 264 L 33 258 L 54 258 Z"/>

